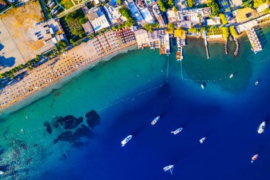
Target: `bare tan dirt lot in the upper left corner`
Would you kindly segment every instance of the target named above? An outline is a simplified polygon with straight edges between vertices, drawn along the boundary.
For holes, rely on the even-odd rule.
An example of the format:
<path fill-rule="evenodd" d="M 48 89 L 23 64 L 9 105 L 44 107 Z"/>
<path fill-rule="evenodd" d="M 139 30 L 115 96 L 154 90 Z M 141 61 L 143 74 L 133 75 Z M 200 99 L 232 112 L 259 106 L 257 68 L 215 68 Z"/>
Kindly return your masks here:
<path fill-rule="evenodd" d="M 24 61 L 34 58 L 36 51 L 44 46 L 43 41 L 50 38 L 49 35 L 42 34 L 44 38 L 38 41 L 35 36 L 35 33 L 42 31 L 41 28 L 46 24 L 34 26 L 35 23 L 43 21 L 41 6 L 38 1 L 29 1 L 28 4 L 11 9 L 6 14 L 1 15 L 0 18 Z M 3 41 L 1 43 L 5 46 Z"/>

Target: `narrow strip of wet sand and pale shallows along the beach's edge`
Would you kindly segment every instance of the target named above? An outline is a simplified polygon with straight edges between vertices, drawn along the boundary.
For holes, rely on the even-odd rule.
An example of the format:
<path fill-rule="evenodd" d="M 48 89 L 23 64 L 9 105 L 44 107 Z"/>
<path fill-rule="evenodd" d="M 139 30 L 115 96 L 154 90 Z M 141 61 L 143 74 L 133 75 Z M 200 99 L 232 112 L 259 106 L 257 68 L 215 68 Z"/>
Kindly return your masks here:
<path fill-rule="evenodd" d="M 48 85 L 46 85 L 45 87 L 39 88 L 38 90 L 29 93 L 28 95 L 23 96 L 18 100 L 15 100 L 14 102 L 12 102 L 9 105 L 6 105 L 5 107 L 0 107 L 0 117 L 5 117 L 11 114 L 12 112 L 15 112 L 16 110 L 20 110 L 21 108 L 30 105 L 31 103 L 35 102 L 41 97 L 49 95 L 50 92 L 53 92 L 53 90 L 57 90 L 63 87 L 63 85 L 68 83 L 73 78 L 77 77 L 77 75 L 80 75 L 87 69 L 94 68 L 100 62 L 111 60 L 116 55 L 119 55 L 121 53 L 127 53 L 128 51 L 134 51 L 136 50 L 136 48 L 137 48 L 136 43 L 131 43 L 127 46 L 119 48 L 119 50 L 117 51 L 103 55 L 99 58 L 96 58 L 95 60 L 90 61 L 89 63 L 86 63 L 85 65 L 80 66 L 75 70 L 70 71 L 69 73 L 65 74 L 62 78 L 56 79 L 52 83 L 48 83 Z"/>

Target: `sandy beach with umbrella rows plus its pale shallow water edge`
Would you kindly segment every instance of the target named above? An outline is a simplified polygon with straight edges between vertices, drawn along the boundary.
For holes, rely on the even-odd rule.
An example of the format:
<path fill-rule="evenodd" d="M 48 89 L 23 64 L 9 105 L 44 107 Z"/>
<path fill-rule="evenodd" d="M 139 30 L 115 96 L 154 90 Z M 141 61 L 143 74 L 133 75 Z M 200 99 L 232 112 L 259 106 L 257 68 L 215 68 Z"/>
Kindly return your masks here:
<path fill-rule="evenodd" d="M 38 98 L 48 95 L 52 90 L 60 88 L 83 70 L 92 68 L 101 61 L 109 60 L 119 53 L 134 49 L 136 49 L 136 41 L 97 56 L 93 53 L 92 41 L 82 43 L 68 51 L 68 54 L 60 55 L 29 71 L 22 80 L 7 85 L 1 92 L 0 113 L 6 115 L 29 105 Z"/>

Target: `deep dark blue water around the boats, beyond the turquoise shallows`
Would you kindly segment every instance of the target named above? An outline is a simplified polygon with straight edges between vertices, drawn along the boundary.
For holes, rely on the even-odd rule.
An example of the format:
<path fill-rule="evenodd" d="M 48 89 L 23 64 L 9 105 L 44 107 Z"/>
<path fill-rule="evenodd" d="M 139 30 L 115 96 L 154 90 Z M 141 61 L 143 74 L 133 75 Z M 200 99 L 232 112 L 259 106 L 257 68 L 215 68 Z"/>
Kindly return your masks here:
<path fill-rule="evenodd" d="M 259 86 L 225 96 L 193 90 L 175 77 L 161 80 L 162 88 L 106 110 L 98 144 L 90 142 L 65 162 L 68 167 L 43 179 L 270 179 L 268 74 Z M 264 120 L 265 132 L 257 134 Z M 170 133 L 178 127 L 183 131 Z M 251 164 L 254 154 L 259 158 Z M 173 176 L 163 172 L 168 164 L 175 164 Z"/>

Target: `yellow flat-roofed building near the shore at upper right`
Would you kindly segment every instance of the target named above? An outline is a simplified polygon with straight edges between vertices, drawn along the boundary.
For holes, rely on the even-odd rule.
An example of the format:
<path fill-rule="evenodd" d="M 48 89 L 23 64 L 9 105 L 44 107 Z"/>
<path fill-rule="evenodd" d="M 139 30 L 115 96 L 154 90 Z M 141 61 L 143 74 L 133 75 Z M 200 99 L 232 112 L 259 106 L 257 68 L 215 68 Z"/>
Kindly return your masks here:
<path fill-rule="evenodd" d="M 234 16 L 236 16 L 237 23 L 243 23 L 245 21 L 254 18 L 257 15 L 257 11 L 249 7 L 244 9 L 237 9 L 234 11 Z"/>

